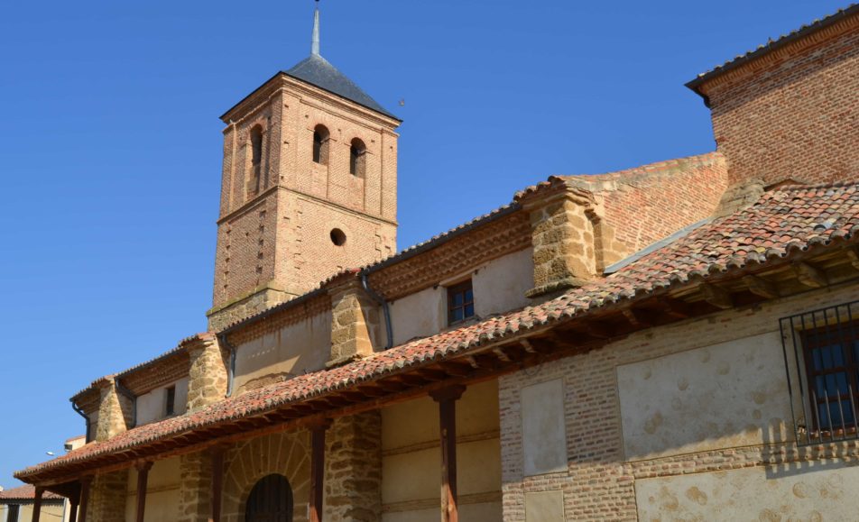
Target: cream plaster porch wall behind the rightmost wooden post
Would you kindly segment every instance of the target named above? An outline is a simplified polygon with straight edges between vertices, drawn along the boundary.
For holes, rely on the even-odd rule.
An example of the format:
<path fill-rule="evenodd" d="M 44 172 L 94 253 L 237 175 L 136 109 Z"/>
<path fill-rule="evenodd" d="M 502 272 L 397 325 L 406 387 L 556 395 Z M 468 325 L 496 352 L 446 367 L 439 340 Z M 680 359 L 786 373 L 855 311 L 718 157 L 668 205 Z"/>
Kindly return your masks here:
<path fill-rule="evenodd" d="M 457 402 L 460 518 L 501 519 L 497 382 L 466 389 Z M 439 520 L 439 405 L 420 398 L 382 410 L 383 522 Z"/>

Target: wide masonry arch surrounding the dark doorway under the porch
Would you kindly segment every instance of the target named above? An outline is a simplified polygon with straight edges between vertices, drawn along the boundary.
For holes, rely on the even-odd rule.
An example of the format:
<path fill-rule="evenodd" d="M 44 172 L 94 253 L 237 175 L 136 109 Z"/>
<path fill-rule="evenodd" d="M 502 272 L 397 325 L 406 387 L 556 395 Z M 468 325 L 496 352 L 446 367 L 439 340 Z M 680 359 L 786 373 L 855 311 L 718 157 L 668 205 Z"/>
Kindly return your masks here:
<path fill-rule="evenodd" d="M 306 431 L 266 435 L 237 444 L 226 455 L 223 520 L 245 522 L 245 505 L 254 484 L 278 473 L 290 481 L 294 522 L 307 521 L 310 437 Z"/>

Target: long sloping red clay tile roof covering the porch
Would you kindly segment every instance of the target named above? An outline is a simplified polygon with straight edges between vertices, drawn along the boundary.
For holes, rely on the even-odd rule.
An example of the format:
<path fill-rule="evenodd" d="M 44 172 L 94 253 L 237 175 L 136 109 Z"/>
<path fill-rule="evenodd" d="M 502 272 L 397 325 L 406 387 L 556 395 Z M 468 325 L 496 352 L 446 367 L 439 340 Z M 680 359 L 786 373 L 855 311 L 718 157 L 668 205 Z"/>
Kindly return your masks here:
<path fill-rule="evenodd" d="M 750 264 L 780 261 L 811 246 L 846 241 L 859 232 L 859 186 L 855 183 L 781 188 L 734 215 L 701 226 L 676 243 L 623 267 L 605 279 L 568 291 L 534 307 L 495 316 L 474 325 L 404 343 L 363 360 L 227 398 L 195 413 L 136 427 L 59 458 L 16 473 L 27 477 L 51 468 L 115 453 L 139 444 L 260 414 L 328 391 L 350 388 L 404 368 L 452 357 L 516 334 L 549 327 L 600 307 L 648 297 L 681 286 L 697 275 L 707 277 Z"/>

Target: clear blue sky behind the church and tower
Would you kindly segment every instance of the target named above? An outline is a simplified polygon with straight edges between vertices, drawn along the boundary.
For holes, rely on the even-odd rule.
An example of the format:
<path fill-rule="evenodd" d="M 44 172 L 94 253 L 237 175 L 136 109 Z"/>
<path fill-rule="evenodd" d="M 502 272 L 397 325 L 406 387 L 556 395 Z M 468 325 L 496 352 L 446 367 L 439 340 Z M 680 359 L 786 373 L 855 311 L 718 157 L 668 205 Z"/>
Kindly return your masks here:
<path fill-rule="evenodd" d="M 404 120 L 402 249 L 550 174 L 714 150 L 683 84 L 843 6 L 323 0 L 322 55 Z M 308 54 L 312 9 L 4 6 L 0 485 L 83 432 L 75 392 L 205 329 L 217 116 Z"/>

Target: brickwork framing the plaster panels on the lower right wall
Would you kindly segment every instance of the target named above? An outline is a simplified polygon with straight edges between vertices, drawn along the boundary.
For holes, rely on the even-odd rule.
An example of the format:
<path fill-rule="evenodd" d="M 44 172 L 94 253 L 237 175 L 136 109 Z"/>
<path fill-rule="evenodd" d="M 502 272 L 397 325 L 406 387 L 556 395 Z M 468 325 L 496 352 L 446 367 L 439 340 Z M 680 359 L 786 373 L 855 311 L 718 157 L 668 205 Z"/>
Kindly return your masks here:
<path fill-rule="evenodd" d="M 592 353 L 568 357 L 503 376 L 499 380 L 505 522 L 525 520 L 524 494 L 562 490 L 568 520 L 637 520 L 636 479 L 672 476 L 770 463 L 855 459 L 859 444 L 758 444 L 625 462 L 615 367 L 779 330 L 779 318 L 859 299 L 859 286 L 809 292 L 760 307 L 726 311 L 678 325 L 633 334 Z M 524 477 L 522 388 L 563 379 L 568 470 Z"/>

